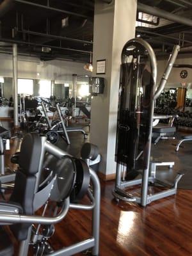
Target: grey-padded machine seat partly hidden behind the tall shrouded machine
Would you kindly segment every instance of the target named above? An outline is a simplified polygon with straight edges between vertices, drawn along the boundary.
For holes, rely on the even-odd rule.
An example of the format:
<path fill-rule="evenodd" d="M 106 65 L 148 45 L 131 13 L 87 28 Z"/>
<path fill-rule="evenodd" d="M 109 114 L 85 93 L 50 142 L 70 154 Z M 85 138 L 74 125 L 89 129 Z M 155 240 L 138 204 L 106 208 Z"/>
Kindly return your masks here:
<path fill-rule="evenodd" d="M 173 122 L 175 118 L 178 118 L 177 115 L 166 115 L 166 116 L 158 116 L 154 115 L 154 120 L 159 121 L 160 119 L 169 119 L 168 125 L 157 125 L 154 127 L 154 122 L 153 122 L 153 128 L 152 128 L 152 141 L 154 145 L 157 144 L 159 140 L 175 140 L 175 132 L 176 132 L 176 127 L 173 126 Z"/>

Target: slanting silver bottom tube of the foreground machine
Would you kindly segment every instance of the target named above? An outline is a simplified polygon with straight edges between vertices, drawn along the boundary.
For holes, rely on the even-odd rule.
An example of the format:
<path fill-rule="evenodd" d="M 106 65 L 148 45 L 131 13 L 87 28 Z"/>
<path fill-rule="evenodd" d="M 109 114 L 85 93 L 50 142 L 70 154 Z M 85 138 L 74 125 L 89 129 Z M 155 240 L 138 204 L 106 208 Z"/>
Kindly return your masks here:
<path fill-rule="evenodd" d="M 71 255 L 75 255 L 76 253 L 83 252 L 89 248 L 92 248 L 94 245 L 95 245 L 95 239 L 90 238 L 82 242 L 72 244 L 71 246 L 67 246 L 61 250 L 57 250 L 56 252 L 49 253 L 48 255 L 49 256 L 71 256 Z"/>

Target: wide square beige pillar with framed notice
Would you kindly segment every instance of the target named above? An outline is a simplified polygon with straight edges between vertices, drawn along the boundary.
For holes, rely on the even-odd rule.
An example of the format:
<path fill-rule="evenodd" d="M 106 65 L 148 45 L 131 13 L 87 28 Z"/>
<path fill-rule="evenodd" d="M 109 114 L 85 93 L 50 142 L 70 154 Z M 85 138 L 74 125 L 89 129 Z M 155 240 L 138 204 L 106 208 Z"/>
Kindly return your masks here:
<path fill-rule="evenodd" d="M 115 177 L 116 118 L 120 80 L 121 52 L 134 38 L 136 0 L 95 0 L 93 31 L 93 76 L 104 77 L 104 94 L 93 97 L 90 141 L 102 155 L 99 172 L 104 179 Z M 106 74 L 96 74 L 97 60 L 106 60 Z"/>

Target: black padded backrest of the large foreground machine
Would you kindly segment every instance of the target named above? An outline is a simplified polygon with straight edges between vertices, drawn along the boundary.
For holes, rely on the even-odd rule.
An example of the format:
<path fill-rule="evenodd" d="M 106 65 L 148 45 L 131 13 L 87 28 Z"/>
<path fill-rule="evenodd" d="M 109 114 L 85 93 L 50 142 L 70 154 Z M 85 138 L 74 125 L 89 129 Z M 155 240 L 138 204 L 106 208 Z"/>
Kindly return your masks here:
<path fill-rule="evenodd" d="M 23 213 L 33 215 L 33 200 L 35 195 L 36 173 L 40 163 L 42 143 L 39 134 L 26 134 L 20 147 L 19 169 L 15 177 L 15 186 L 10 201 L 20 204 Z M 19 240 L 25 240 L 30 224 L 15 224 L 10 226 L 13 234 Z"/>

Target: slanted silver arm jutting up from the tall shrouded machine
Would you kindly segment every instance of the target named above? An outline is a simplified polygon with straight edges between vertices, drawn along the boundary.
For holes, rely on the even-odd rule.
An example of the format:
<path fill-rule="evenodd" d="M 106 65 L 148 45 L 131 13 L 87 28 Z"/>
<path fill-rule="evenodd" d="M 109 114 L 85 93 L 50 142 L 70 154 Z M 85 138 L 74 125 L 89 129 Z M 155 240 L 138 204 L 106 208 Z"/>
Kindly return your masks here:
<path fill-rule="evenodd" d="M 192 20 L 191 20 L 192 22 Z M 170 72 L 172 71 L 172 68 L 173 68 L 173 64 L 175 63 L 175 60 L 177 58 L 177 55 L 178 55 L 178 52 L 180 50 L 180 46 L 179 45 L 175 45 L 173 47 L 173 51 L 172 51 L 172 54 L 170 55 L 170 58 L 168 60 L 168 64 L 166 66 L 166 69 L 164 71 L 164 74 L 163 74 L 163 77 L 161 78 L 161 82 L 157 88 L 157 91 L 154 95 L 154 100 L 156 100 L 159 95 L 163 92 L 163 89 L 164 89 L 164 86 L 168 80 L 168 77 L 170 76 Z"/>

